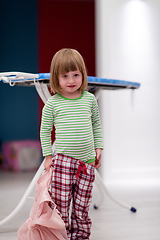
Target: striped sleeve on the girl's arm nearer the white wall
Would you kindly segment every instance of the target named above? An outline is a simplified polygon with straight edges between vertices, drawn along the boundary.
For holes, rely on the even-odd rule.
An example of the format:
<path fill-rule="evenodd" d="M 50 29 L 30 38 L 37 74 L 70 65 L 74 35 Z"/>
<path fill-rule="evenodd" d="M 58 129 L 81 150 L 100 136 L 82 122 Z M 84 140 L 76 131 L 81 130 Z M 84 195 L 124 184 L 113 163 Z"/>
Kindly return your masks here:
<path fill-rule="evenodd" d="M 101 122 L 99 117 L 98 104 L 95 97 L 92 104 L 92 127 L 93 127 L 95 149 L 96 148 L 103 149 L 102 128 L 101 128 Z"/>

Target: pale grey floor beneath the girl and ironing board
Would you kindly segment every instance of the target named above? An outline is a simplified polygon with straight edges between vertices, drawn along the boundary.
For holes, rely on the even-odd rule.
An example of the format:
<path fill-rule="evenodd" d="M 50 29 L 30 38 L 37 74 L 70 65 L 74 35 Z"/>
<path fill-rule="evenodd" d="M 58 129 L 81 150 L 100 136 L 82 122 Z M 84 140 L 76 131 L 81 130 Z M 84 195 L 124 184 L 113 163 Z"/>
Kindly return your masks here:
<path fill-rule="evenodd" d="M 34 173 L 0 172 L 0 220 L 17 206 Z M 112 196 L 137 208 L 136 213 L 115 204 L 105 197 L 98 210 L 94 203 L 101 200 L 94 187 L 90 216 L 93 221 L 91 240 L 159 240 L 160 239 L 160 187 L 149 186 L 109 186 Z M 34 193 L 33 193 L 34 194 Z M 17 229 L 28 218 L 33 204 L 27 200 L 23 210 L 12 221 L 0 227 L 1 240 L 16 240 Z"/>

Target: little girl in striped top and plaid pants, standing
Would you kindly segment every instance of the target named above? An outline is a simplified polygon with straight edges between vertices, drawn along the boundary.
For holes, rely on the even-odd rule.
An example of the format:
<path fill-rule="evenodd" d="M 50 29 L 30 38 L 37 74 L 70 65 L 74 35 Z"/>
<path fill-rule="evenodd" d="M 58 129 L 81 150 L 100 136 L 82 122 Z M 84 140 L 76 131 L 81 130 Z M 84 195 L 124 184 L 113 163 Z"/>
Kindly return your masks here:
<path fill-rule="evenodd" d="M 50 86 L 55 95 L 43 108 L 40 137 L 44 167 L 49 170 L 53 164 L 52 199 L 62 214 L 68 238 L 89 239 L 91 220 L 88 211 L 95 168 L 101 165 L 103 142 L 96 99 L 84 91 L 87 72 L 79 52 L 61 49 L 54 55 Z M 53 125 L 56 140 L 52 159 Z"/>

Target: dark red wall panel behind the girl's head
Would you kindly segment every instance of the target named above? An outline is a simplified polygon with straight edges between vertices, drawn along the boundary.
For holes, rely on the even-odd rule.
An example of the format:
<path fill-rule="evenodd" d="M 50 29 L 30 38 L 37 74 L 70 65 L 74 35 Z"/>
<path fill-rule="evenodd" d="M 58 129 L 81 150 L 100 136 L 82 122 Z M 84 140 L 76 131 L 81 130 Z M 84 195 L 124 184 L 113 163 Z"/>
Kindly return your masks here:
<path fill-rule="evenodd" d="M 78 50 L 88 75 L 95 76 L 95 4 L 93 0 L 39 0 L 39 72 L 49 72 L 61 48 Z M 40 103 L 40 112 L 43 103 Z"/>

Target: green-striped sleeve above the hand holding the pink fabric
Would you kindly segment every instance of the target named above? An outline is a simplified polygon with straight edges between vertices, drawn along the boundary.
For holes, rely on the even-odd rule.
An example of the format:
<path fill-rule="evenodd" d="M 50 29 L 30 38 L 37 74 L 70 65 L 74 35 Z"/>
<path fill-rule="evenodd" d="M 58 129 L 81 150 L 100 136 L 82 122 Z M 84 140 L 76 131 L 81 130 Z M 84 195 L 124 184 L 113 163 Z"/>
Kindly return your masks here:
<path fill-rule="evenodd" d="M 53 129 L 54 114 L 53 105 L 50 100 L 47 101 L 42 110 L 42 120 L 40 129 L 40 139 L 43 156 L 52 154 L 51 131 Z"/>

